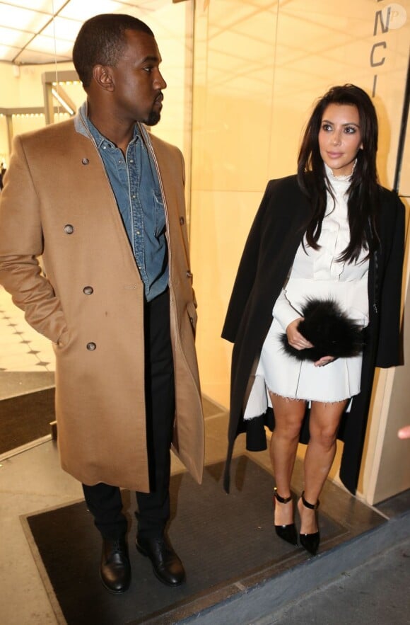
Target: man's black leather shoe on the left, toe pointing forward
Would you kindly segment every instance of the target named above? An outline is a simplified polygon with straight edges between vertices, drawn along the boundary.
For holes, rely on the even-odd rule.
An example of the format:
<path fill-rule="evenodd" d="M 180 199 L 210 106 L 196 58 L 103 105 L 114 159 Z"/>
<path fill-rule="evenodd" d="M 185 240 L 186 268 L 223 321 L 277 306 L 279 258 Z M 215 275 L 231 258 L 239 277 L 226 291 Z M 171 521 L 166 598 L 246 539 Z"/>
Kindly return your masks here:
<path fill-rule="evenodd" d="M 100 578 L 102 585 L 116 595 L 129 587 L 131 567 L 125 538 L 102 539 Z"/>

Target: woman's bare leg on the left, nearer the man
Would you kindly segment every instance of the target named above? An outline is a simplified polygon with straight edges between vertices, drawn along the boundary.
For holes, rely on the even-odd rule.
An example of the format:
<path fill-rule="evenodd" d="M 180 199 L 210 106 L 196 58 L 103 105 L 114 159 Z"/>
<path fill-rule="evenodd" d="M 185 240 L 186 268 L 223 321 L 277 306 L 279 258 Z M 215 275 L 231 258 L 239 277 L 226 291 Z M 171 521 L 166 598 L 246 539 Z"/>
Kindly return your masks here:
<path fill-rule="evenodd" d="M 275 413 L 275 429 L 269 448 L 276 488 L 286 498 L 291 494 L 291 476 L 298 449 L 299 433 L 305 415 L 305 401 L 288 399 L 270 393 Z M 293 523 L 293 507 L 275 501 L 275 525 Z"/>

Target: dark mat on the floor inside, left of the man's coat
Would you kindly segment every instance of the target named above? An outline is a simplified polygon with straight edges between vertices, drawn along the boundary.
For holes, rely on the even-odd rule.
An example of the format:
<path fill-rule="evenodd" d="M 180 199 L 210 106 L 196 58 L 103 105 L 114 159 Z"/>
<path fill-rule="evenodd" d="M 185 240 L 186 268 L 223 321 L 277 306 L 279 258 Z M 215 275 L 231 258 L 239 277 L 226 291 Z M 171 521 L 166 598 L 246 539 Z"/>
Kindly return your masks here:
<path fill-rule="evenodd" d="M 0 454 L 51 433 L 54 388 L 0 401 Z"/>

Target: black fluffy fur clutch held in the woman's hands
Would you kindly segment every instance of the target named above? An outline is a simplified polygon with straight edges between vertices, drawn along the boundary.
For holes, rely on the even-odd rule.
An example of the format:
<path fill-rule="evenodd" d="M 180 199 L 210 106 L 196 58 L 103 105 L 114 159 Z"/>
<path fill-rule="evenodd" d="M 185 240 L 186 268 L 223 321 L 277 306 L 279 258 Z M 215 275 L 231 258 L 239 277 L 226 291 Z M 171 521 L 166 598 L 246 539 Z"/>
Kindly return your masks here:
<path fill-rule="evenodd" d="M 303 321 L 298 331 L 303 334 L 312 348 L 295 350 L 288 343 L 286 333 L 281 335 L 283 350 L 298 360 L 316 362 L 322 356 L 349 358 L 363 351 L 365 332 L 362 326 L 348 319 L 339 304 L 333 299 L 307 299 L 302 308 Z"/>

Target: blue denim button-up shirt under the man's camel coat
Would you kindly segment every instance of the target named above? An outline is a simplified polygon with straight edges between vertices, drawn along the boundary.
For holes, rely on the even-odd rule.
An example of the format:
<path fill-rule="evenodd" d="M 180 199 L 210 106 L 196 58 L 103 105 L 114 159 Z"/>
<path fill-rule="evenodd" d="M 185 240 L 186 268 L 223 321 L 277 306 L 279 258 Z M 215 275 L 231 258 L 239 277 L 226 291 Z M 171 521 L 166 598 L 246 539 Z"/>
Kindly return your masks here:
<path fill-rule="evenodd" d="M 144 282 L 146 301 L 168 287 L 168 248 L 165 238 L 165 209 L 156 166 L 141 137 L 138 125 L 122 150 L 104 137 L 86 118 L 110 179 L 122 222 Z"/>

